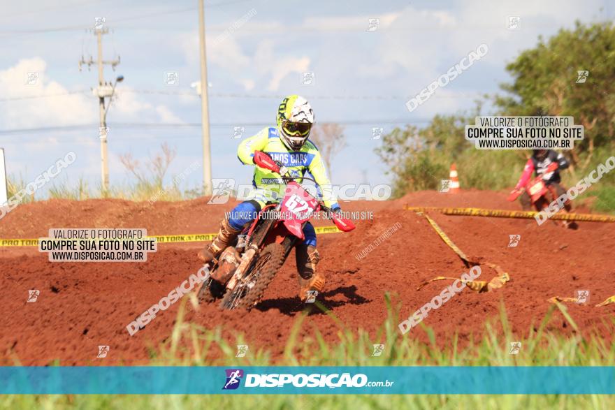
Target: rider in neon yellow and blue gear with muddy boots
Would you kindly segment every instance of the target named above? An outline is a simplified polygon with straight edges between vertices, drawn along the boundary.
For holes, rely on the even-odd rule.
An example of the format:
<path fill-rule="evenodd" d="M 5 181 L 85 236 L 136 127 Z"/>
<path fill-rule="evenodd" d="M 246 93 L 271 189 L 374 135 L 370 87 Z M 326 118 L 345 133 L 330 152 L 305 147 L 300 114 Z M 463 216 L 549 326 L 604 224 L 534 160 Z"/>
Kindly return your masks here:
<path fill-rule="evenodd" d="M 213 258 L 217 258 L 229 244 L 233 243 L 243 228 L 256 219 L 259 211 L 267 203 L 279 202 L 283 198 L 286 185 L 280 179 L 280 175 L 254 163 L 256 151 L 265 152 L 274 161 L 281 163 L 292 177 L 303 177 L 306 172 L 310 173 L 317 182 L 317 188 L 326 207 L 330 208 L 331 212 L 340 212 L 340 205 L 332 196 L 331 182 L 321 154 L 316 145 L 307 139 L 312 124 L 314 124 L 314 112 L 310 103 L 298 95 L 287 96 L 277 110 L 277 126 L 262 129 L 255 136 L 240 143 L 237 150 L 239 161 L 254 166 L 252 179 L 252 184 L 256 188 L 253 193 L 254 198 L 237 205 L 231 211 L 229 219 L 222 219 L 217 236 L 211 244 L 198 253 L 201 261 L 209 263 Z M 307 298 L 307 291 L 321 293 L 325 284 L 324 273 L 317 270 L 319 254 L 316 249 L 314 226 L 307 222 L 303 234 L 305 239 L 295 247 L 301 300 Z"/>

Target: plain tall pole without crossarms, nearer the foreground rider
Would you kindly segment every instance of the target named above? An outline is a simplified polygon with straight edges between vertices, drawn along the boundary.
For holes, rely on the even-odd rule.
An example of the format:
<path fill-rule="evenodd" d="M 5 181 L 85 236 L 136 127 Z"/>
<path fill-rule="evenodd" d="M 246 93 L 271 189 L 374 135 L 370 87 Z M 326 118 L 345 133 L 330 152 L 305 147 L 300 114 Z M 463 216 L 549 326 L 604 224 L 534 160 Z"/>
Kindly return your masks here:
<path fill-rule="evenodd" d="M 207 56 L 205 54 L 205 8 L 198 0 L 198 37 L 201 45 L 201 128 L 203 132 L 203 189 L 205 195 L 212 194 L 211 146 L 209 138 L 209 107 L 207 96 Z"/>

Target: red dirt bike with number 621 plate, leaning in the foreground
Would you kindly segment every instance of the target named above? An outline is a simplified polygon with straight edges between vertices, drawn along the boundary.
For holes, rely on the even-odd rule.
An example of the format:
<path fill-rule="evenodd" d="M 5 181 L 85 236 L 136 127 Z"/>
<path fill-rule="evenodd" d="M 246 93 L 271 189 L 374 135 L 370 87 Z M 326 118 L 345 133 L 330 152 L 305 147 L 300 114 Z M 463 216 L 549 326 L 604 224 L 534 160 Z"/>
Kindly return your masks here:
<path fill-rule="evenodd" d="M 284 166 L 263 152 L 255 152 L 254 160 L 261 168 L 280 174 L 287 188 L 280 203 L 263 207 L 238 239 L 210 263 L 210 278 L 198 291 L 198 300 L 215 302 L 222 298 L 221 309 L 249 310 L 261 300 L 296 241 L 303 240 L 303 227 L 314 213 L 323 210 L 330 214 L 343 232 L 355 228 L 352 221 L 331 214 L 324 203 L 294 181 L 301 178 L 315 183 L 312 178 L 290 177 Z"/>

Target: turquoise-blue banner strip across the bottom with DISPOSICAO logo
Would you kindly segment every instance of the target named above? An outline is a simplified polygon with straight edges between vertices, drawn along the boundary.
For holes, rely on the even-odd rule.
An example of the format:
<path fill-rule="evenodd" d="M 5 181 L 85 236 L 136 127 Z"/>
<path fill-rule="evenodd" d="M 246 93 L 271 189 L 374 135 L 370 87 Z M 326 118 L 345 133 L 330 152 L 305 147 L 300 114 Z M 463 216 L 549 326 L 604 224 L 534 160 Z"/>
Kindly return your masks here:
<path fill-rule="evenodd" d="M 615 367 L 0 367 L 0 394 L 615 394 Z"/>

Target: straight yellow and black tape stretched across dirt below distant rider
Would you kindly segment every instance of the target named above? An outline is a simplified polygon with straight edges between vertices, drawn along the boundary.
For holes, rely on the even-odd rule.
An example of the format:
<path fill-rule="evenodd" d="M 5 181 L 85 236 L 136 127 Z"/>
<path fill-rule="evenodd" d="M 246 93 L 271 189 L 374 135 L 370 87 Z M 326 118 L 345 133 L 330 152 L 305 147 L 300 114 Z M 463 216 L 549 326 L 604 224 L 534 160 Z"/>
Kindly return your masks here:
<path fill-rule="evenodd" d="M 464 217 L 493 217 L 493 218 L 521 218 L 533 219 L 539 212 L 535 211 L 508 211 L 508 210 L 484 210 L 481 208 L 455 208 L 455 207 L 411 207 L 404 205 L 405 210 L 414 212 L 440 212 L 445 215 L 461 215 Z M 611 215 L 598 214 L 567 214 L 558 212 L 549 219 L 564 221 L 588 221 L 588 222 L 615 222 Z"/>

